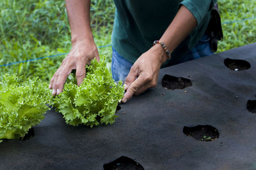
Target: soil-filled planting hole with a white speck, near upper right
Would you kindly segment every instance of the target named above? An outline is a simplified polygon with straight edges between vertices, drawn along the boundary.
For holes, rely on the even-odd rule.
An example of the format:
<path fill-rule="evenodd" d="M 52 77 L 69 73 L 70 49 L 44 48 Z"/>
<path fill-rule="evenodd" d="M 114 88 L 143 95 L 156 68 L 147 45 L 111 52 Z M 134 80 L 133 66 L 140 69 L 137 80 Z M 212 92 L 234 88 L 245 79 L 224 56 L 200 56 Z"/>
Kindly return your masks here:
<path fill-rule="evenodd" d="M 250 69 L 251 64 L 247 62 L 246 60 L 237 60 L 237 59 L 225 59 L 224 60 L 225 66 L 230 68 L 234 71 L 242 71 L 244 69 Z"/>

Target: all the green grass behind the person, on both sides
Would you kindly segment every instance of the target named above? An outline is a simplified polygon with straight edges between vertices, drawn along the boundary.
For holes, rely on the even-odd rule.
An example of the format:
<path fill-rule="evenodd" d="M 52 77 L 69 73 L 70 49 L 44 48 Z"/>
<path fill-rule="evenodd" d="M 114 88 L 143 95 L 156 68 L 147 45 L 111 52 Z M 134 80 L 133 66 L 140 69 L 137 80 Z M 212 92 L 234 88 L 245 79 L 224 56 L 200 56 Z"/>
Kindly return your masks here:
<path fill-rule="evenodd" d="M 254 17 L 256 1 L 219 1 L 221 21 Z M 35 59 L 70 50 L 70 27 L 64 0 L 0 1 L 0 65 Z M 91 24 L 97 46 L 111 43 L 115 6 L 113 0 L 92 0 Z M 256 42 L 255 19 L 224 24 L 218 52 Z M 100 48 L 111 61 L 111 46 Z M 39 76 L 49 81 L 65 55 L 0 67 L 3 73 Z"/>

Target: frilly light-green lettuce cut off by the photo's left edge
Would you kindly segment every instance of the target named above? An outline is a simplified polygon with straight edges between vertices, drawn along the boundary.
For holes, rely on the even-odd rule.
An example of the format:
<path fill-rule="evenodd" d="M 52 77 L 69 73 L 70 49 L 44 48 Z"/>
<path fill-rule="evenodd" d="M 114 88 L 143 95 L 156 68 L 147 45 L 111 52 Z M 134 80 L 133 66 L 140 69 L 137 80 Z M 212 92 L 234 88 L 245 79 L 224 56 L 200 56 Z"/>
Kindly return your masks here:
<path fill-rule="evenodd" d="M 49 110 L 46 104 L 51 101 L 51 92 L 47 83 L 38 78 L 22 79 L 16 74 L 0 78 L 0 139 L 24 137 Z"/>

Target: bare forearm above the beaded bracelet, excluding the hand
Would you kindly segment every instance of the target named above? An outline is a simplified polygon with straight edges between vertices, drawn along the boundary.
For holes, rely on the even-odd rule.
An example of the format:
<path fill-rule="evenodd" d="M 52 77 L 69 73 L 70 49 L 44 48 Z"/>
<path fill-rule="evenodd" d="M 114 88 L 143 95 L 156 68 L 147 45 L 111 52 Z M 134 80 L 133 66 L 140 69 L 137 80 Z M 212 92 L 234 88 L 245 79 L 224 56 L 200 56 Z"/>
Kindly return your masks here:
<path fill-rule="evenodd" d="M 173 52 L 188 34 L 195 29 L 196 24 L 196 18 L 182 5 L 160 41 L 164 42 L 170 52 Z"/>

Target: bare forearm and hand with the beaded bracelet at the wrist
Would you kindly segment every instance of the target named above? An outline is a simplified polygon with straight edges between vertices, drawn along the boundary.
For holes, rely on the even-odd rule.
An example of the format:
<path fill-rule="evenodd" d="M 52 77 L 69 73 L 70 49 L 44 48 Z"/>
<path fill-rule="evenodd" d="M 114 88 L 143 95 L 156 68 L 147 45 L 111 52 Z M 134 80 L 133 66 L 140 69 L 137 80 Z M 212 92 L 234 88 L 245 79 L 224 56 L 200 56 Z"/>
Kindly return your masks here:
<path fill-rule="evenodd" d="M 170 52 L 181 43 L 196 27 L 196 18 L 185 7 L 181 6 L 179 12 L 164 32 L 162 41 Z M 130 73 L 125 79 L 125 90 L 122 101 L 125 103 L 134 94 L 141 94 L 150 87 L 157 85 L 161 64 L 168 59 L 163 47 L 159 44 L 152 46 L 143 53 L 131 67 Z"/>

